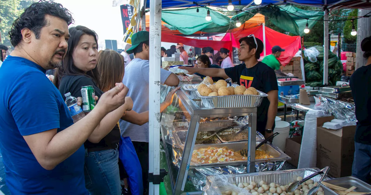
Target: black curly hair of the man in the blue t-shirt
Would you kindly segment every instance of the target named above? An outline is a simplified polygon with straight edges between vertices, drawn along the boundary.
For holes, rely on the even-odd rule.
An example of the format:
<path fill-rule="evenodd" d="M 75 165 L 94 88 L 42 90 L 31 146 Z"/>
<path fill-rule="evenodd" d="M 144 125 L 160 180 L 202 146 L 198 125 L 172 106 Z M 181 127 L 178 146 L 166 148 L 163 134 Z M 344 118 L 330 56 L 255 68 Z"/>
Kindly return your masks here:
<path fill-rule="evenodd" d="M 44 0 L 33 3 L 24 9 L 24 12 L 14 21 L 12 29 L 9 31 L 12 45 L 15 47 L 21 42 L 21 31 L 24 28 L 32 30 L 36 39 L 40 39 L 40 31 L 42 27 L 47 25 L 46 14 L 65 20 L 67 25 L 74 22 L 71 13 L 62 4 Z"/>

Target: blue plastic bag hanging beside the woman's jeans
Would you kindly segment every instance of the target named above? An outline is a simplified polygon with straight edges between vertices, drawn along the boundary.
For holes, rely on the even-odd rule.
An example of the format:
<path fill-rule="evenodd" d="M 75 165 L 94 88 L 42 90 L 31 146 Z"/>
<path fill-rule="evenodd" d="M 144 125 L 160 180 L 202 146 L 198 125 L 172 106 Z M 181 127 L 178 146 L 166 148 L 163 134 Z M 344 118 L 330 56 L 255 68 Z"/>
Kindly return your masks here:
<path fill-rule="evenodd" d="M 121 137 L 119 159 L 128 175 L 128 185 L 132 195 L 143 194 L 142 167 L 130 137 Z"/>

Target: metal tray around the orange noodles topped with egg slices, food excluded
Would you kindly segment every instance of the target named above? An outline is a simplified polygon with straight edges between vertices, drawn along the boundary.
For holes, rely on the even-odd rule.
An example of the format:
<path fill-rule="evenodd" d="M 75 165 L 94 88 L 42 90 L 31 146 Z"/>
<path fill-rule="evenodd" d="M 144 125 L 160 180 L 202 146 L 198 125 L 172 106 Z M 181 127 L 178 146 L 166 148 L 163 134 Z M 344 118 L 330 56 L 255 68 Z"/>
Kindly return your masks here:
<path fill-rule="evenodd" d="M 260 142 L 257 141 L 256 145 L 258 145 Z M 247 150 L 247 144 L 248 142 L 232 142 L 232 143 L 220 143 L 220 144 L 200 144 L 195 145 L 194 150 L 201 149 L 201 148 L 207 148 L 207 147 L 227 147 L 228 149 L 232 149 L 235 152 L 239 152 L 240 150 Z M 267 150 L 269 151 L 270 155 L 272 155 L 274 158 L 270 159 L 255 159 L 255 163 L 259 162 L 275 162 L 275 161 L 282 161 L 282 160 L 290 160 L 291 157 L 286 155 L 282 150 L 280 150 L 278 147 L 272 146 L 270 144 L 263 144 L 259 149 Z M 182 155 L 183 151 L 180 151 L 179 155 Z M 201 167 L 215 167 L 215 166 L 228 166 L 228 165 L 239 165 L 242 163 L 247 163 L 247 160 L 239 160 L 239 161 L 232 161 L 232 162 L 218 162 L 218 163 L 207 163 L 207 164 L 195 164 L 193 162 L 190 163 L 190 167 L 193 168 L 201 168 Z"/>

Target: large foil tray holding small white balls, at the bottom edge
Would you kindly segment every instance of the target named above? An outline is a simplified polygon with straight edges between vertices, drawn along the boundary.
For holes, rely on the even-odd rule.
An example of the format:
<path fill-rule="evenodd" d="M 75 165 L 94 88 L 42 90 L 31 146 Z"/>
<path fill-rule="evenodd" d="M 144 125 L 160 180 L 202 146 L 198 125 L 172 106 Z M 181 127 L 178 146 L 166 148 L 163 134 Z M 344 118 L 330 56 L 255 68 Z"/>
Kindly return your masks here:
<path fill-rule="evenodd" d="M 288 185 L 289 183 L 296 181 L 298 176 L 305 178 L 317 171 L 318 169 L 304 168 L 236 175 L 210 175 L 206 177 L 204 192 L 207 195 L 218 194 L 218 188 L 223 187 L 223 185 L 228 185 L 228 183 L 237 185 L 238 183 L 250 183 L 252 181 L 259 183 L 261 180 L 264 180 L 267 183 L 274 182 L 280 185 Z M 312 180 L 318 182 L 321 177 L 322 174 L 313 177 Z M 328 179 L 328 177 L 325 177 L 324 180 Z"/>

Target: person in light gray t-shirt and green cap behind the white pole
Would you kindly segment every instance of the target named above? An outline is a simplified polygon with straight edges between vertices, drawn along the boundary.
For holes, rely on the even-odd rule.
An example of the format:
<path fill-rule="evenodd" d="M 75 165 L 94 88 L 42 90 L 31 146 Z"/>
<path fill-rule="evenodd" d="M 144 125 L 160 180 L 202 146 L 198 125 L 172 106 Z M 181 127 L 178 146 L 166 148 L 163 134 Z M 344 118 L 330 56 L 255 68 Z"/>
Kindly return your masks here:
<path fill-rule="evenodd" d="M 149 33 L 139 31 L 132 36 L 131 42 L 132 46 L 127 53 L 134 53 L 135 58 L 125 67 L 122 82 L 130 89 L 127 96 L 133 100 L 133 110 L 142 113 L 149 109 Z M 164 69 L 161 69 L 160 80 L 162 85 L 176 86 L 179 84 L 177 75 Z M 142 166 L 144 193 L 148 194 L 148 123 L 139 126 L 120 120 L 120 130 L 122 137 L 130 137 L 137 151 Z"/>

